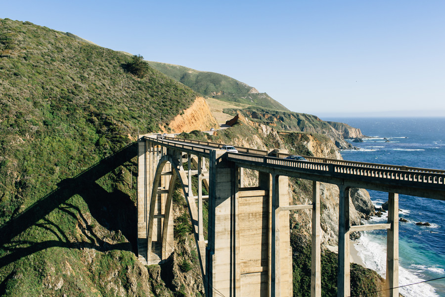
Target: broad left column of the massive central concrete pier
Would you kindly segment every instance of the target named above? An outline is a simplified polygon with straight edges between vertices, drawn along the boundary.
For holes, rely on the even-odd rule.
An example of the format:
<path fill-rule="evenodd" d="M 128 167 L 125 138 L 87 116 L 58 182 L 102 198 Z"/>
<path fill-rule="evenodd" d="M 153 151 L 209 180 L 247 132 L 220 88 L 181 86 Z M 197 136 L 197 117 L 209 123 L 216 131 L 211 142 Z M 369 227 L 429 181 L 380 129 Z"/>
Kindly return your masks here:
<path fill-rule="evenodd" d="M 210 155 L 209 237 L 206 296 L 241 296 L 238 226 L 238 170 L 220 156 Z"/>

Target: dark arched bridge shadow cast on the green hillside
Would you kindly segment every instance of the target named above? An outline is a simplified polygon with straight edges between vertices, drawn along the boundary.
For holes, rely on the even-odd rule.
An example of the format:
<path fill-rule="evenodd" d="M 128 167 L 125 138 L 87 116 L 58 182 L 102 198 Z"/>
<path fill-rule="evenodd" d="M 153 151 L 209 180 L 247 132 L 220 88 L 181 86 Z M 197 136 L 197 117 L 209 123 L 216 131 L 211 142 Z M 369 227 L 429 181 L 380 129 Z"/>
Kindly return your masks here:
<path fill-rule="evenodd" d="M 129 195 L 119 190 L 109 193 L 96 183 L 105 174 L 126 162 L 131 162 L 136 155 L 137 143 L 135 142 L 102 159 L 74 178 L 63 180 L 56 190 L 1 226 L 0 248 L 8 252 L 0 258 L 0 267 L 49 247 L 93 248 L 100 251 L 119 249 L 136 252 L 137 211 L 134 202 Z M 125 236 L 130 243 L 109 244 L 101 238 L 100 234 L 95 234 L 93 226 L 89 224 L 81 209 L 67 202 L 74 195 L 79 195 L 85 200 L 89 213 L 101 226 L 114 231 L 118 239 L 121 235 Z M 70 241 L 69 236 L 46 217 L 53 210 L 62 211 L 77 220 L 78 227 L 87 241 Z M 33 226 L 49 231 L 57 240 L 44 242 L 14 240 Z M 117 242 L 122 242 L 122 240 L 117 240 Z"/>

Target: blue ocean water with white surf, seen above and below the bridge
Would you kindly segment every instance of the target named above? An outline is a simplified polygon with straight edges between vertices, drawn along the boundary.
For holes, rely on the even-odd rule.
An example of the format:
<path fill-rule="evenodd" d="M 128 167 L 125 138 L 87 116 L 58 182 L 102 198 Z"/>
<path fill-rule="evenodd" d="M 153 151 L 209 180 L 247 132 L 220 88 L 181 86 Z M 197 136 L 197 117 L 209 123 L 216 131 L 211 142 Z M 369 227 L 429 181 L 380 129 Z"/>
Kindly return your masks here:
<path fill-rule="evenodd" d="M 360 128 L 373 138 L 342 151 L 346 160 L 445 170 L 445 118 L 324 118 Z M 445 189 L 444 189 L 445 191 Z M 369 191 L 380 206 L 388 193 Z M 445 201 L 400 195 L 400 286 L 445 276 Z M 385 222 L 387 217 L 367 223 Z M 416 222 L 429 222 L 430 227 Z M 386 231 L 365 232 L 355 244 L 366 267 L 386 272 Z M 445 297 L 445 279 L 403 287 L 405 297 Z"/>

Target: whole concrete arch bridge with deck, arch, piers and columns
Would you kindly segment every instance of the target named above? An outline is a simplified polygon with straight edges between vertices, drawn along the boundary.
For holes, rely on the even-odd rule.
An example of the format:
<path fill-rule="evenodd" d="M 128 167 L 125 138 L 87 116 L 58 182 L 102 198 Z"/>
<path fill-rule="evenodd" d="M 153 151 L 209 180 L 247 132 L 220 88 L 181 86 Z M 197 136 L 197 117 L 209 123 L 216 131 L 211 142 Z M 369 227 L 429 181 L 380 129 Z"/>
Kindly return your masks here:
<path fill-rule="evenodd" d="M 321 296 L 320 188 L 339 191 L 338 296 L 350 296 L 350 239 L 354 231 L 387 230 L 388 288 L 399 285 L 398 195 L 445 200 L 445 171 L 307 157 L 285 159 L 280 149 L 241 148 L 152 135 L 138 139 L 138 257 L 158 264 L 173 252 L 172 196 L 180 181 L 187 201 L 207 297 L 291 297 L 289 210 L 312 209 L 311 296 Z M 184 169 L 184 163 L 187 163 Z M 194 168 L 194 169 L 193 169 Z M 243 185 L 243 168 L 259 172 L 259 186 Z M 195 193 L 192 177 L 197 176 Z M 312 204 L 289 205 L 288 177 L 312 180 Z M 202 195 L 202 187 L 208 196 Z M 388 193 L 386 224 L 350 226 L 349 189 Z M 208 199 L 207 240 L 203 200 Z M 398 297 L 391 289 L 389 296 Z"/>

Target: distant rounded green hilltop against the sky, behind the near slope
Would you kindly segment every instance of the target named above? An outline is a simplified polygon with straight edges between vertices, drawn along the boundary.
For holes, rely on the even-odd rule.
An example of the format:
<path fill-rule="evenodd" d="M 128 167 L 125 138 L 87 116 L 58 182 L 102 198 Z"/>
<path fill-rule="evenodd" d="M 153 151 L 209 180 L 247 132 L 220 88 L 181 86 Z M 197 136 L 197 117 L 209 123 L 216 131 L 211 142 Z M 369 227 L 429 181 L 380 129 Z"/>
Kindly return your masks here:
<path fill-rule="evenodd" d="M 160 62 L 149 61 L 148 64 L 203 96 L 274 110 L 289 110 L 266 93 L 257 93 L 251 86 L 223 74 Z"/>

